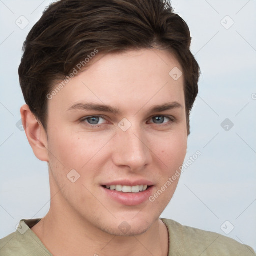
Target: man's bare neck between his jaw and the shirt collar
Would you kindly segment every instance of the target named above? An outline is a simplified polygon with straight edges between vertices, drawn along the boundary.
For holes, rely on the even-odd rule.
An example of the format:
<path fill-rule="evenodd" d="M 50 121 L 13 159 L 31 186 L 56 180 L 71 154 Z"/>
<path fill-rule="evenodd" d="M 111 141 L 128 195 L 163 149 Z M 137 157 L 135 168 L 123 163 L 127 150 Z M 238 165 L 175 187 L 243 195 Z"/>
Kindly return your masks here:
<path fill-rule="evenodd" d="M 168 255 L 168 230 L 160 219 L 142 234 L 112 235 L 78 215 L 55 190 L 49 212 L 31 228 L 52 255 Z"/>

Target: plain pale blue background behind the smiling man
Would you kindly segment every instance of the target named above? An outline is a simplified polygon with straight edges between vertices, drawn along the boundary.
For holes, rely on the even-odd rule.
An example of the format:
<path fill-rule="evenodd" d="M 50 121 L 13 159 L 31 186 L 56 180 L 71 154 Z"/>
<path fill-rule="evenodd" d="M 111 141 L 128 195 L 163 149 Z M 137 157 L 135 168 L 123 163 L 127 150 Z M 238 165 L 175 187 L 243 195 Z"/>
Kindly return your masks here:
<path fill-rule="evenodd" d="M 16 123 L 24 103 L 17 74 L 21 47 L 51 2 L 0 0 L 0 238 L 20 219 L 43 217 L 49 209 L 47 164 L 33 155 Z M 184 170 L 162 217 L 255 250 L 256 0 L 173 0 L 172 6 L 190 28 L 202 72 L 185 162 L 197 150 L 202 154 Z M 24 29 L 15 24 L 21 15 L 29 21 Z M 229 29 L 220 23 L 226 15 L 234 21 Z M 234 123 L 229 131 L 220 126 L 226 118 Z M 229 234 L 220 228 L 226 220 L 234 226 Z"/>

